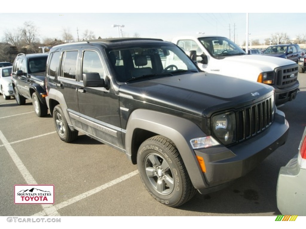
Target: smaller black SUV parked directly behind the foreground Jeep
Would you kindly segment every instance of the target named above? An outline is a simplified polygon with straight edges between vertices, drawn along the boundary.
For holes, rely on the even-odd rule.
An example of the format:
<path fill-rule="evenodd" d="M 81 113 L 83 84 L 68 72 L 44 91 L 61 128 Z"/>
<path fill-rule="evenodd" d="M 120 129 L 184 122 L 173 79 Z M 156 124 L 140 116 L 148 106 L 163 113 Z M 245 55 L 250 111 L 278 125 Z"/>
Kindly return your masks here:
<path fill-rule="evenodd" d="M 26 99 L 32 100 L 38 117 L 48 113 L 45 99 L 47 57 L 47 53 L 20 53 L 16 56 L 12 69 L 12 86 L 17 104 L 24 105 Z"/>

